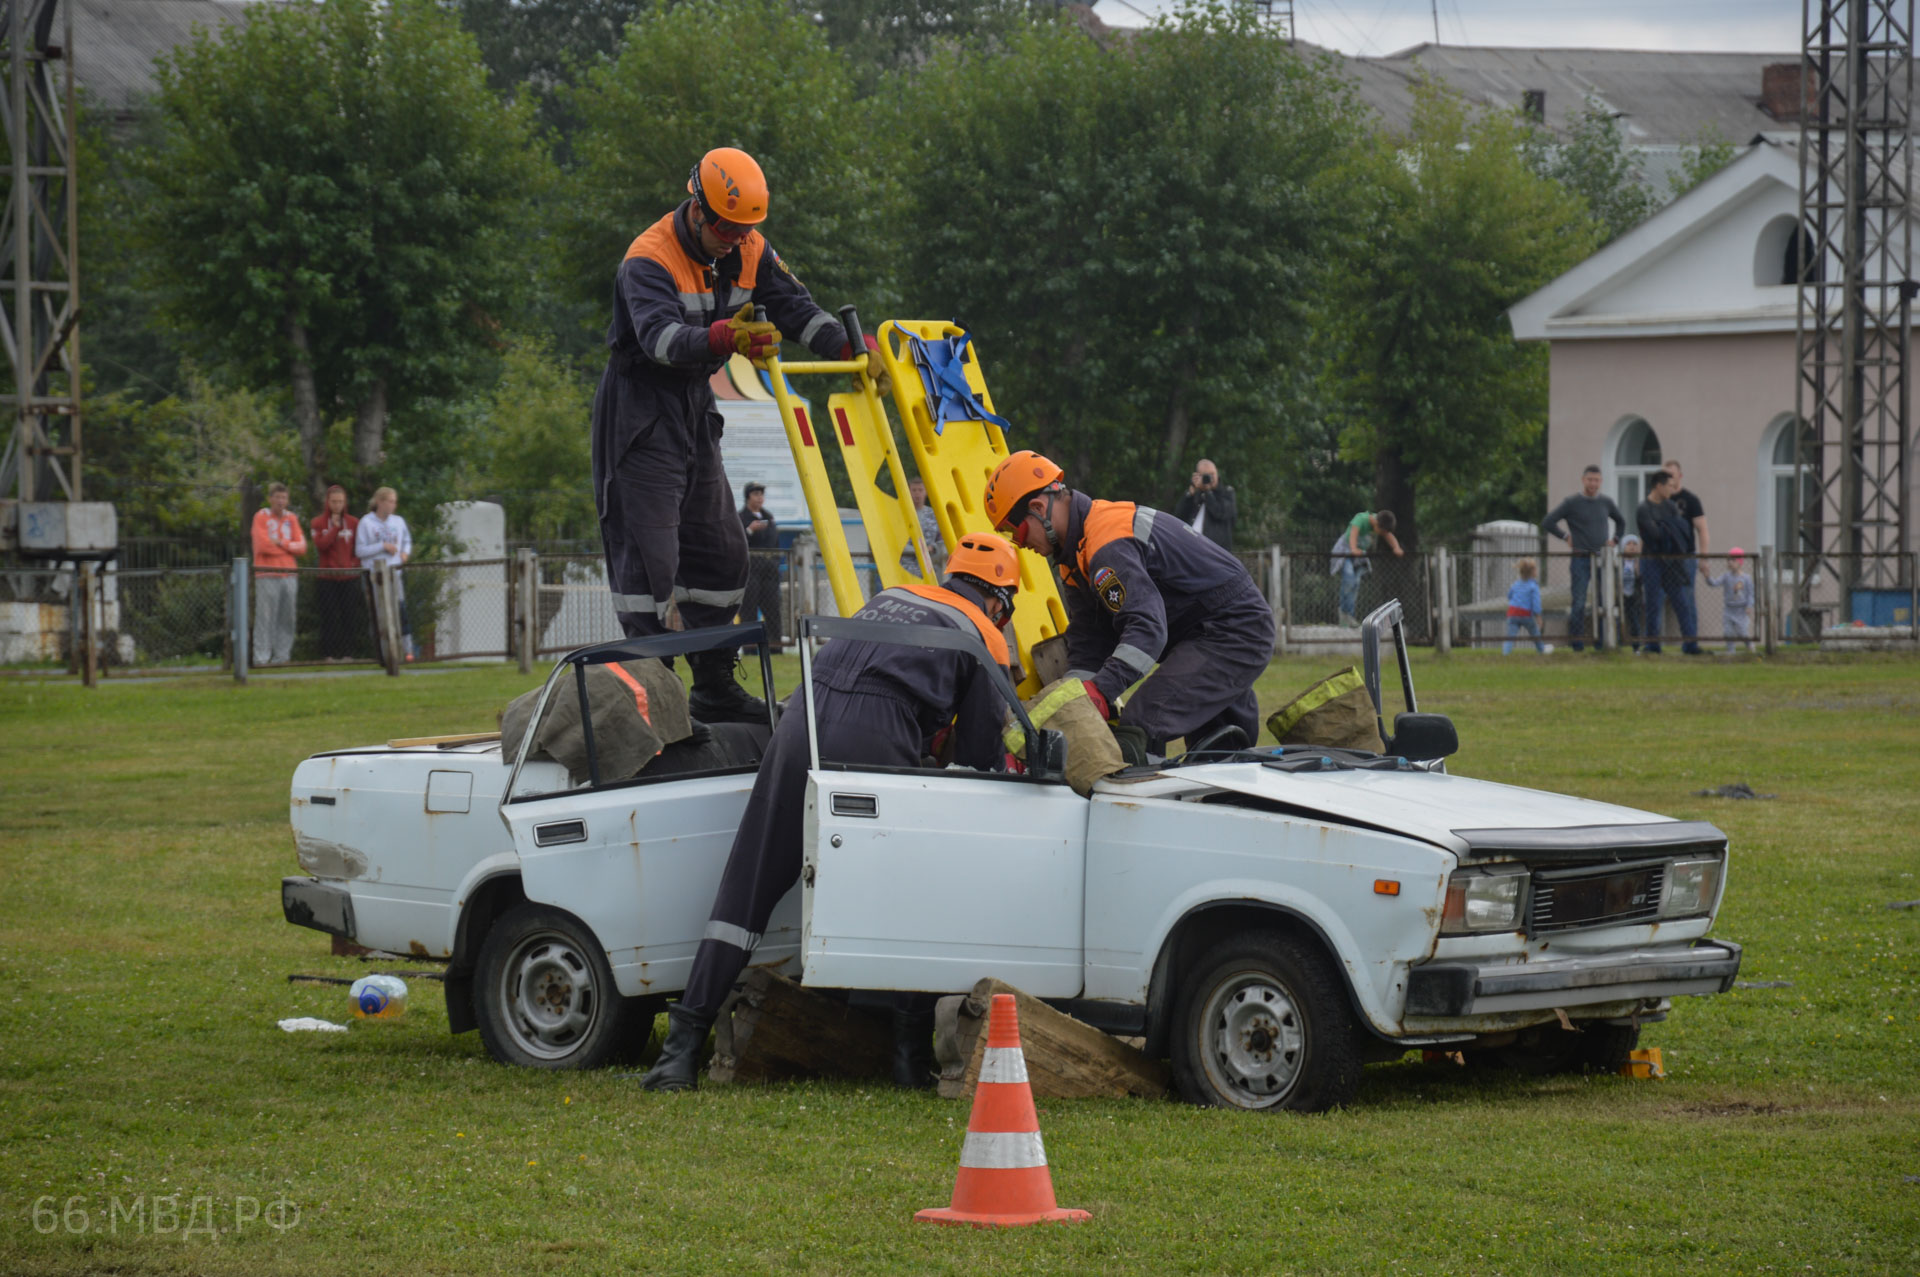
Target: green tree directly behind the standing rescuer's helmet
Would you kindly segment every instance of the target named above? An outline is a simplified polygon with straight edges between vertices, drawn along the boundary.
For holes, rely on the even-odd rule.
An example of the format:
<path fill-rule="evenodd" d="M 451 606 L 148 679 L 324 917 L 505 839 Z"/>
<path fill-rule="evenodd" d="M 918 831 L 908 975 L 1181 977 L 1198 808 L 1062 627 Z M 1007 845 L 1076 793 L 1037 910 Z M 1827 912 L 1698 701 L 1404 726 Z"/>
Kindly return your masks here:
<path fill-rule="evenodd" d="M 822 305 L 891 305 L 893 136 L 854 104 L 847 60 L 781 0 L 655 4 L 572 106 L 580 163 L 559 217 L 574 292 L 601 325 L 626 246 L 687 198 L 687 173 L 714 146 L 766 171 L 768 238 Z"/>

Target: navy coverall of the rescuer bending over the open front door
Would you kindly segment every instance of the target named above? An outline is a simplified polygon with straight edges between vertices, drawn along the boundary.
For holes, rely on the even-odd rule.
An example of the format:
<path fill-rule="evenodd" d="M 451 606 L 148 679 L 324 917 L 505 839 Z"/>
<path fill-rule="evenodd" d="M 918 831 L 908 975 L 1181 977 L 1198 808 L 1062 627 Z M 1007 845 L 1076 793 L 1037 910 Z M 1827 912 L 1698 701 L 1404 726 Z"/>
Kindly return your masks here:
<path fill-rule="evenodd" d="M 948 578 L 945 590 L 975 609 L 985 601 L 985 591 L 964 580 Z M 854 618 L 977 634 L 977 622 L 958 607 L 906 590 L 881 590 Z M 1000 743 L 1006 711 L 979 661 L 966 653 L 833 639 L 814 661 L 822 762 L 920 766 L 933 734 L 952 724 L 952 760 L 996 772 L 1006 757 Z M 795 691 L 760 759 L 707 933 L 680 995 L 680 1006 L 708 1024 L 760 943 L 780 897 L 801 878 L 806 768 L 806 705 Z"/>

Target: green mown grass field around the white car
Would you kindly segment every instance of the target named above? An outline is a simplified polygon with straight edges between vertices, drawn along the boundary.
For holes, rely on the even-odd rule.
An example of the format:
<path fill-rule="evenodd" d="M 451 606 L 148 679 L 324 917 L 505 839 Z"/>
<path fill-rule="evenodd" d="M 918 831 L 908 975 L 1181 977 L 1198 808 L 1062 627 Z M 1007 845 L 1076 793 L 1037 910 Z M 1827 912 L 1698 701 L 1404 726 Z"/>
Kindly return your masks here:
<path fill-rule="evenodd" d="M 1332 664 L 1277 663 L 1269 709 Z M 1415 1054 L 1319 1118 L 1043 1102 L 1094 1219 L 1012 1233 L 910 1221 L 964 1102 L 505 1070 L 430 981 L 396 1024 L 275 1027 L 348 1020 L 290 972 L 369 970 L 280 918 L 294 764 L 492 728 L 534 680 L 0 680 L 0 1271 L 1920 1271 L 1920 908 L 1887 908 L 1920 897 L 1920 663 L 1417 678 L 1455 772 L 1726 830 L 1716 933 L 1788 983 L 1682 1000 L 1644 1039 L 1667 1081 Z M 1692 793 L 1736 780 L 1778 797 Z"/>

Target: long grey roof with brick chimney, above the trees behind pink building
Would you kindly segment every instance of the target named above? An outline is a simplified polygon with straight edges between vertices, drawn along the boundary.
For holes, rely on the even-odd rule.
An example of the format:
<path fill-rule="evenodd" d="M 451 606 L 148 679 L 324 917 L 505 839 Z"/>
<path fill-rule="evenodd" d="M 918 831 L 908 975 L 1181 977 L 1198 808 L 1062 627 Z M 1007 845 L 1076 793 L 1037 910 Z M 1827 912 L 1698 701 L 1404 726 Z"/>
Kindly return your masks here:
<path fill-rule="evenodd" d="M 1309 50 L 1311 46 L 1302 46 Z M 1565 133 L 1586 100 L 1613 109 L 1630 144 L 1749 142 L 1782 125 L 1761 109 L 1761 73 L 1799 61 L 1780 54 L 1665 54 L 1619 48 L 1459 48 L 1415 44 L 1384 58 L 1344 58 L 1388 129 L 1413 117 L 1413 84 L 1432 75 L 1469 102 L 1519 109 L 1528 88 L 1546 94 L 1546 125 Z"/>

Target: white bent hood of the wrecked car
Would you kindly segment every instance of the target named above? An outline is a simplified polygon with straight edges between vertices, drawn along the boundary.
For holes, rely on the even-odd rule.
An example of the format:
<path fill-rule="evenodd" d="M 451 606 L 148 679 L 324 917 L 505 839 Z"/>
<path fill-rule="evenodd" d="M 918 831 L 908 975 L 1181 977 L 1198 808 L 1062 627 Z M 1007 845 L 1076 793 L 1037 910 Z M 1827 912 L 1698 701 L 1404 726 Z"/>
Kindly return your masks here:
<path fill-rule="evenodd" d="M 1371 826 L 1467 855 L 1498 830 L 1540 835 L 1551 830 L 1674 824 L 1667 816 L 1521 789 L 1444 772 L 1327 770 L 1281 772 L 1258 762 L 1217 762 L 1179 770 L 1181 780 L 1246 793 L 1342 824 Z M 1473 837 L 1463 837 L 1461 831 Z M 1498 839 L 1496 839 L 1498 841 Z"/>

